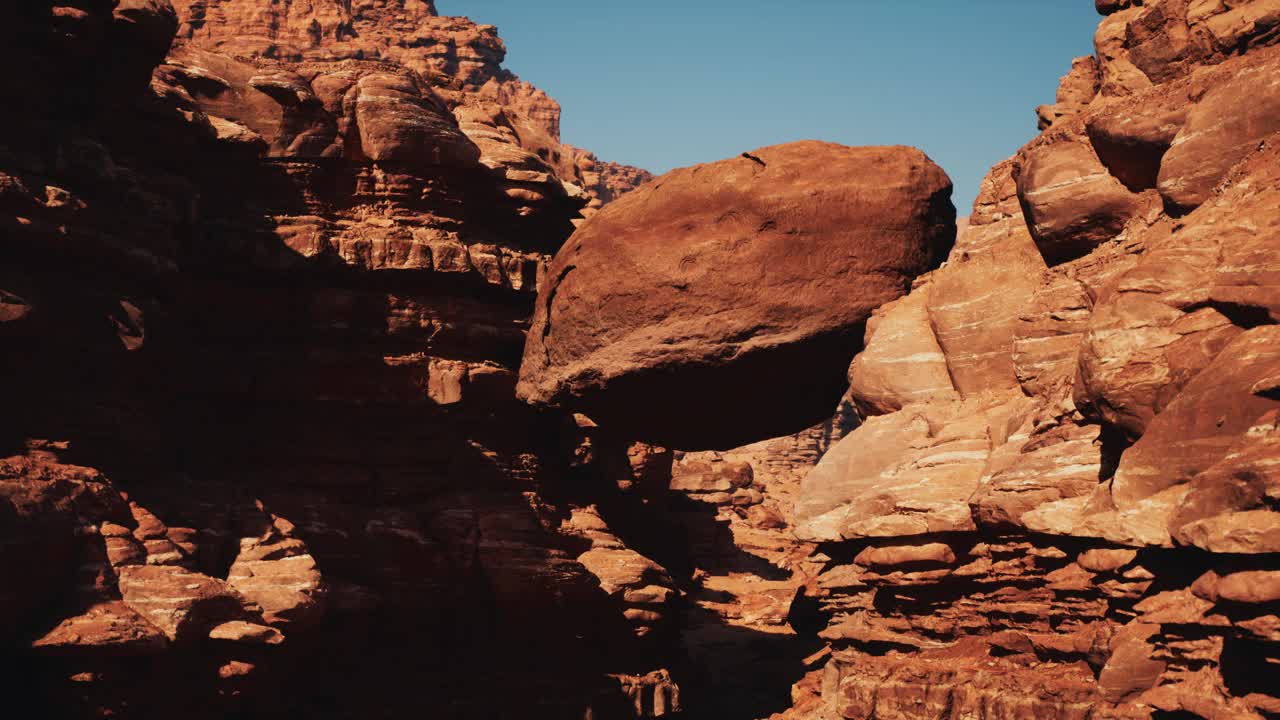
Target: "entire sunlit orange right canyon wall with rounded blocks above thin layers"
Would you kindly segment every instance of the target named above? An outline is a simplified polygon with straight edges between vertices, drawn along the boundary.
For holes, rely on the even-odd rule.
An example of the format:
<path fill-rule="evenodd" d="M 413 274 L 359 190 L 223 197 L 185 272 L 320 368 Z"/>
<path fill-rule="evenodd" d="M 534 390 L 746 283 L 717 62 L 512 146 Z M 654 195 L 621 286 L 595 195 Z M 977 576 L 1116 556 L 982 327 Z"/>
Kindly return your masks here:
<path fill-rule="evenodd" d="M 1280 5 L 1098 8 L 868 327 L 869 416 L 795 503 L 831 659 L 785 717 L 1280 714 Z"/>

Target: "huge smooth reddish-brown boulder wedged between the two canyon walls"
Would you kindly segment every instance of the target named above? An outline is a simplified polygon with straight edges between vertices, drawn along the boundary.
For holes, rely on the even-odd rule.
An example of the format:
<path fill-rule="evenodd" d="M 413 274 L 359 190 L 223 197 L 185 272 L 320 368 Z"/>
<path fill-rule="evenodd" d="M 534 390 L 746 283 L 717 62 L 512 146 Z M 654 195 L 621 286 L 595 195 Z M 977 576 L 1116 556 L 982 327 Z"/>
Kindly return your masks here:
<path fill-rule="evenodd" d="M 910 147 L 796 142 L 675 170 L 556 256 L 517 392 L 690 450 L 797 432 L 831 414 L 872 310 L 954 237 L 951 182 Z"/>

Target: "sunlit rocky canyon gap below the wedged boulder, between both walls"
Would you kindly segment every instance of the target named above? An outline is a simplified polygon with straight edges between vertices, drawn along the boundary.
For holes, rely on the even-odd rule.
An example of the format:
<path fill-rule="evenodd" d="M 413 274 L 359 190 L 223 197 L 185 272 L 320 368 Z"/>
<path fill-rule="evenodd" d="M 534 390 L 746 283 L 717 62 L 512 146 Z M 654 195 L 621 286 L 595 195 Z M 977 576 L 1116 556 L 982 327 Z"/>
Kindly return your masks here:
<path fill-rule="evenodd" d="M 822 650 L 795 600 L 823 564 L 812 543 L 796 542 L 791 506 L 805 474 L 859 421 L 844 400 L 792 436 L 677 454 L 668 505 L 692 568 L 681 646 L 696 669 L 686 684 L 699 712 L 760 717 L 787 707 L 790 685 Z"/>

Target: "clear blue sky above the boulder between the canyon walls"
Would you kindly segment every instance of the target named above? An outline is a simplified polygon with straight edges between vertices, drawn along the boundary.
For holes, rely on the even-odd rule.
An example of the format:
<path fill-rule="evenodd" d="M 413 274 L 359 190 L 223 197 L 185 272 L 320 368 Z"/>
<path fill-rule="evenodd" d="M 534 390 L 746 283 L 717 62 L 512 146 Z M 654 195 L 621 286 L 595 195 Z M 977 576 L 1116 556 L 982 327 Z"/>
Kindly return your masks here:
<path fill-rule="evenodd" d="M 961 215 L 1036 135 L 1092 0 L 436 0 L 498 26 L 566 142 L 662 173 L 817 138 L 914 145 Z"/>

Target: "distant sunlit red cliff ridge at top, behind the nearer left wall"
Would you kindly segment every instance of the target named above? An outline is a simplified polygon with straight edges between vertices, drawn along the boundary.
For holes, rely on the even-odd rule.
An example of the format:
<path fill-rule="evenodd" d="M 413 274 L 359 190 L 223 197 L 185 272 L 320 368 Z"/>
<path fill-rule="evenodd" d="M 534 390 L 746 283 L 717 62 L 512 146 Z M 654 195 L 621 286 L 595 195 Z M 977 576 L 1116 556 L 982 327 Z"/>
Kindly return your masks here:
<path fill-rule="evenodd" d="M 562 145 L 559 104 L 502 67 L 507 49 L 498 28 L 439 17 L 430 0 L 265 6 L 256 0 L 178 0 L 174 6 L 182 45 L 293 63 L 384 61 L 416 73 L 483 147 L 515 146 L 497 147 L 498 158 L 486 165 L 553 174 L 571 183 L 571 195 L 588 200 L 588 214 L 650 177 Z M 511 154 L 527 167 L 513 164 Z"/>

